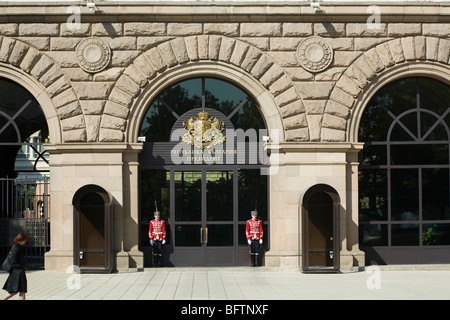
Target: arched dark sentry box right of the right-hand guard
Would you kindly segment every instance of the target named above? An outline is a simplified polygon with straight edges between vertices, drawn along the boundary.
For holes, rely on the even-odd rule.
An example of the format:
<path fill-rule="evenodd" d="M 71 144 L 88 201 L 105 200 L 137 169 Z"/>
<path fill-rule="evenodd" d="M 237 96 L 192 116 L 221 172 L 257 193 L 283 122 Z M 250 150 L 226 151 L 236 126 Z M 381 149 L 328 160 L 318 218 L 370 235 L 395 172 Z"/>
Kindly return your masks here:
<path fill-rule="evenodd" d="M 315 185 L 303 196 L 303 272 L 339 271 L 339 211 L 339 195 L 328 185 Z"/>

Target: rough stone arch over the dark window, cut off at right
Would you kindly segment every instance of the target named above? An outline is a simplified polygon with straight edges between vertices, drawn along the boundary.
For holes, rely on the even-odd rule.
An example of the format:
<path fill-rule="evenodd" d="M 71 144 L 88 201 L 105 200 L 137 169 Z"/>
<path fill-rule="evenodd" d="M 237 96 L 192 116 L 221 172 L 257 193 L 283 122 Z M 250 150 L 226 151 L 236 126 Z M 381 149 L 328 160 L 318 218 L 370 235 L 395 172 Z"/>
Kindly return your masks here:
<path fill-rule="evenodd" d="M 390 40 L 364 52 L 339 78 L 323 116 L 322 141 L 358 141 L 365 106 L 382 85 L 426 75 L 450 82 L 450 41 L 435 37 Z"/>

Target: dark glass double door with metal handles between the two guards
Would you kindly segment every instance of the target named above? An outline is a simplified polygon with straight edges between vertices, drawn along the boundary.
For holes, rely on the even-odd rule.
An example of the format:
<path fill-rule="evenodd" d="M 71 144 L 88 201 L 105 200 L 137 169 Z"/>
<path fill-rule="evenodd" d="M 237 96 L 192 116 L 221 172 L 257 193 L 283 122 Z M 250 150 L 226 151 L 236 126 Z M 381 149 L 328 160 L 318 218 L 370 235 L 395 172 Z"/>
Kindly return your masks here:
<path fill-rule="evenodd" d="M 233 171 L 174 171 L 175 265 L 234 265 Z"/>

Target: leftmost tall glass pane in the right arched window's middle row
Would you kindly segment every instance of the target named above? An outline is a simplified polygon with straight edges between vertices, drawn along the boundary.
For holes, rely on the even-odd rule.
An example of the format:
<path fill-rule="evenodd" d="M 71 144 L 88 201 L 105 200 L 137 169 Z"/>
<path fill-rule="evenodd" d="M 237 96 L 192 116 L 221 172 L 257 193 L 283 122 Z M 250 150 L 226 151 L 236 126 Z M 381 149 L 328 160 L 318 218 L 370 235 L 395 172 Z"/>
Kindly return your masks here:
<path fill-rule="evenodd" d="M 387 171 L 359 172 L 359 220 L 387 220 Z"/>

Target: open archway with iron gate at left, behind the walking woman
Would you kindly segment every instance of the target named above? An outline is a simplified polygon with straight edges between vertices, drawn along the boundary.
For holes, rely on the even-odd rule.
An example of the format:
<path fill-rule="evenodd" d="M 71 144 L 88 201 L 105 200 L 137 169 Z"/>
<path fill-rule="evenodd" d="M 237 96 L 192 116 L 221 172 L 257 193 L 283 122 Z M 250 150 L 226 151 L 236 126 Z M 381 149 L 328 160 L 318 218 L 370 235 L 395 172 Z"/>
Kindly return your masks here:
<path fill-rule="evenodd" d="M 50 249 L 49 137 L 36 98 L 18 83 L 0 77 L 0 258 L 15 235 L 29 237 L 27 265 L 41 268 Z"/>

